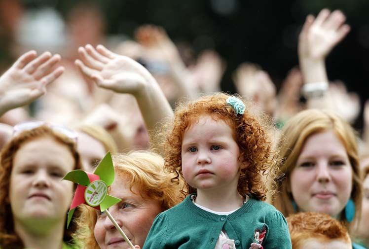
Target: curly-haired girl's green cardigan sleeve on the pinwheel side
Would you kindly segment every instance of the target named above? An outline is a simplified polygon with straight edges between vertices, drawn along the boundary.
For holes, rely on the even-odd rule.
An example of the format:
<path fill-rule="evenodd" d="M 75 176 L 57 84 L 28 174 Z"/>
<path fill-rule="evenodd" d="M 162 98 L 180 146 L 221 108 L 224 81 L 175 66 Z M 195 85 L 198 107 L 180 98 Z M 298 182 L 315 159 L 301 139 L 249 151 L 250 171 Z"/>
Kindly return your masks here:
<path fill-rule="evenodd" d="M 148 232 L 143 249 L 161 249 L 164 248 L 168 236 L 168 219 L 165 213 L 159 213 L 152 223 Z"/>

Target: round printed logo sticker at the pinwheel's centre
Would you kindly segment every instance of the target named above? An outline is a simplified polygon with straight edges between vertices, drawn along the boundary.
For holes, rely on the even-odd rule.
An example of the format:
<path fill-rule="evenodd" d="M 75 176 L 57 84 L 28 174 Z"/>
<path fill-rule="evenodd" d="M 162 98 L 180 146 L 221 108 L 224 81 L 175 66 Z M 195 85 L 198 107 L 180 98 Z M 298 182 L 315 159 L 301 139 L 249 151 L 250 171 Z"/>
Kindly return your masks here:
<path fill-rule="evenodd" d="M 84 200 L 91 207 L 99 206 L 108 194 L 108 186 L 102 180 L 91 182 L 84 191 Z"/>

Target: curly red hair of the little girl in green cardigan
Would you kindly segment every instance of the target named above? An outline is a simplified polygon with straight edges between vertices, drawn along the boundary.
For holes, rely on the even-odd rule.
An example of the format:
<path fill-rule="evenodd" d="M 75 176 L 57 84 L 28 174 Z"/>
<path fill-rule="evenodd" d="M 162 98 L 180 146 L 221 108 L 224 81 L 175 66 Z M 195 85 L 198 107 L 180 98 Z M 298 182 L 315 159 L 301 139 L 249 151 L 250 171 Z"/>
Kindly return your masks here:
<path fill-rule="evenodd" d="M 277 167 L 274 159 L 276 151 L 267 134 L 270 128 L 264 118 L 251 112 L 246 107 L 244 114 L 236 114 L 235 110 L 226 103 L 232 95 L 216 93 L 205 95 L 199 100 L 180 104 L 174 113 L 174 121 L 164 125 L 165 141 L 165 169 L 176 175 L 173 181 L 183 179 L 182 173 L 182 142 L 186 129 L 194 124 L 201 116 L 210 115 L 215 120 L 222 120 L 234 131 L 234 140 L 240 149 L 239 160 L 242 164 L 238 181 L 238 192 L 241 195 L 250 194 L 258 200 L 266 199 L 267 188 L 263 175 L 275 175 Z M 240 98 L 240 100 L 242 100 Z M 250 106 L 245 103 L 246 106 Z M 273 181 L 274 177 L 270 180 Z M 274 182 L 274 181 L 273 181 Z M 196 189 L 185 183 L 185 195 L 196 192 Z"/>

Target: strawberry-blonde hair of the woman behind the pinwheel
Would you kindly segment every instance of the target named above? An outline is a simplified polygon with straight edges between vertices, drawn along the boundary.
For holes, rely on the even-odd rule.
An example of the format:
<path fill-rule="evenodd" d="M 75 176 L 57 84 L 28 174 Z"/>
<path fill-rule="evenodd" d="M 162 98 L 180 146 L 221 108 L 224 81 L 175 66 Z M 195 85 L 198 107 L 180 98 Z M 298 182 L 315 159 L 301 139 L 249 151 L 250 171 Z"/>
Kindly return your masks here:
<path fill-rule="evenodd" d="M 143 198 L 161 203 L 161 210 L 165 211 L 180 203 L 182 183 L 172 182 L 173 177 L 163 170 L 163 158 L 146 150 L 131 151 L 112 155 L 115 180 L 124 180 L 132 191 L 137 187 Z M 81 205 L 78 207 L 80 216 L 76 220 L 78 229 L 73 237 L 88 249 L 100 249 L 94 236 L 97 221 L 96 209 Z M 150 211 L 148 211 L 150 212 Z M 157 214 L 157 213 L 156 213 Z"/>

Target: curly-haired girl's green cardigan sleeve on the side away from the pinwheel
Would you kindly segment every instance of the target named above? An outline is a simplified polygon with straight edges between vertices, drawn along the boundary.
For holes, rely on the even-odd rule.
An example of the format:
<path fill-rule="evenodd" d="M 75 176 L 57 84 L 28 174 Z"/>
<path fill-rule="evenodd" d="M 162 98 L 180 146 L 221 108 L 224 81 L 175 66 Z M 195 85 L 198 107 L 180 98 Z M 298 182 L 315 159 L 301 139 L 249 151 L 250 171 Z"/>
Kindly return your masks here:
<path fill-rule="evenodd" d="M 292 249 L 290 231 L 285 217 L 275 211 L 267 217 L 268 234 L 263 243 L 265 249 Z"/>

